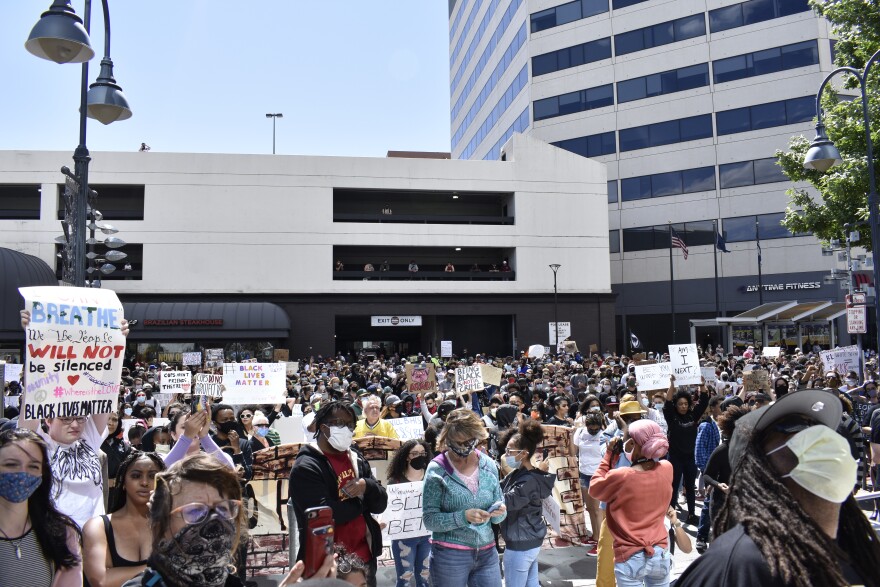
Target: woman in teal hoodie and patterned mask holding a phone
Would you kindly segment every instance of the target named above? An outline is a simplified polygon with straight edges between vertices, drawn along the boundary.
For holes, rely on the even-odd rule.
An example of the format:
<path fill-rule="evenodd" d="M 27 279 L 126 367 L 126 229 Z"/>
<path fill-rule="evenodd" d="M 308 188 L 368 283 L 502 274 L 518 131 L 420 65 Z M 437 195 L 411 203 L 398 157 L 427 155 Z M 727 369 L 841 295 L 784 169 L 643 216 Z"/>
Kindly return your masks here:
<path fill-rule="evenodd" d="M 468 408 L 453 410 L 437 438 L 444 452 L 425 472 L 422 518 L 431 531 L 431 585 L 500 587 L 491 521 L 507 515 L 498 467 L 476 451 L 489 434 Z"/>

